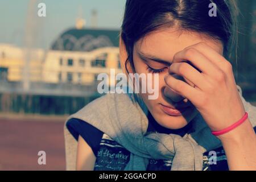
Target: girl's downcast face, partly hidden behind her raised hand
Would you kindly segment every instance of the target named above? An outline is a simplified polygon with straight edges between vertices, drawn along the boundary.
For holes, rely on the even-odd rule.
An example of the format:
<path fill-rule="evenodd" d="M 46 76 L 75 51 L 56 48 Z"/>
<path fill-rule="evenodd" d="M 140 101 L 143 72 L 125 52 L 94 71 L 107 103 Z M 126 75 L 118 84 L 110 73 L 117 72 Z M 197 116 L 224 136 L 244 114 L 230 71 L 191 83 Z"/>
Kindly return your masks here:
<path fill-rule="evenodd" d="M 204 34 L 185 31 L 181 33 L 172 28 L 151 32 L 134 45 L 135 71 L 146 75 L 147 73 L 159 73 L 159 97 L 156 100 L 148 100 L 148 93 L 140 94 L 140 96 L 156 122 L 163 127 L 180 129 L 198 114 L 195 106 L 186 98 L 174 102 L 164 94 L 164 88 L 167 86 L 164 76 L 168 74 L 168 67 L 172 64 L 175 53 L 200 42 L 208 44 L 222 55 L 223 47 L 220 41 L 207 38 Z M 175 115 L 170 113 L 167 107 L 172 109 L 183 107 L 183 109 L 178 109 L 181 115 Z"/>

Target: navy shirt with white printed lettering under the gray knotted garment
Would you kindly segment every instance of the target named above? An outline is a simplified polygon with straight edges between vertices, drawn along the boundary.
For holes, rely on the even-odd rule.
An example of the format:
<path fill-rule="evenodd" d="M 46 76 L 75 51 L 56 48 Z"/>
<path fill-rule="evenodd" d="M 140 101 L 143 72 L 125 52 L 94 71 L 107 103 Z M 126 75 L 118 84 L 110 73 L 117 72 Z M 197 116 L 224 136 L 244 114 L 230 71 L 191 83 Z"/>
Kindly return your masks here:
<path fill-rule="evenodd" d="M 147 132 L 158 132 L 166 134 L 178 134 L 183 137 L 190 128 L 187 126 L 178 130 L 166 129 L 160 126 L 152 115 L 148 114 L 148 129 Z M 88 143 L 96 156 L 94 171 L 122 171 L 130 159 L 130 151 L 115 142 L 108 135 L 98 130 L 96 127 L 80 119 L 72 118 L 67 122 L 67 128 L 73 137 L 78 140 L 79 135 Z M 256 127 L 254 128 L 254 130 Z M 212 163 L 212 154 L 205 152 L 203 154 L 203 170 L 205 171 L 225 171 L 228 170 L 225 151 L 222 147 L 216 148 L 217 158 L 216 163 Z M 150 159 L 147 171 L 170 171 L 172 160 L 156 160 Z"/>

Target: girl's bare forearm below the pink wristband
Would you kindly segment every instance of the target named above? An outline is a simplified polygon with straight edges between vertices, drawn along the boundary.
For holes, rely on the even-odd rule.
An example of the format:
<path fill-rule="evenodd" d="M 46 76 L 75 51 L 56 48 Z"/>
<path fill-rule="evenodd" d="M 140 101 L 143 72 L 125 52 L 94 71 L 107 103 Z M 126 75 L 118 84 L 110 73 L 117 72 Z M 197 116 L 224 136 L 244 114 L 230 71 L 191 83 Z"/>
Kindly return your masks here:
<path fill-rule="evenodd" d="M 256 135 L 249 119 L 220 135 L 229 170 L 256 170 Z"/>

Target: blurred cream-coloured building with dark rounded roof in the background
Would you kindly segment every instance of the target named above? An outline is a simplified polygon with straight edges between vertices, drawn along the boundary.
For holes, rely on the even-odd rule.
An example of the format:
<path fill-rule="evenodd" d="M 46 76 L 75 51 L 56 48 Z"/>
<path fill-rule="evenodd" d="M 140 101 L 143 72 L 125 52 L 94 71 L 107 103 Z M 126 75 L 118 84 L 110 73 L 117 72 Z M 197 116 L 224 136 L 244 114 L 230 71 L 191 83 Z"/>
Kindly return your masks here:
<path fill-rule="evenodd" d="M 51 49 L 31 49 L 29 81 L 51 84 L 90 85 L 99 73 L 122 72 L 119 64 L 118 30 L 72 28 L 53 41 Z M 23 80 L 26 50 L 0 44 L 0 81 Z"/>

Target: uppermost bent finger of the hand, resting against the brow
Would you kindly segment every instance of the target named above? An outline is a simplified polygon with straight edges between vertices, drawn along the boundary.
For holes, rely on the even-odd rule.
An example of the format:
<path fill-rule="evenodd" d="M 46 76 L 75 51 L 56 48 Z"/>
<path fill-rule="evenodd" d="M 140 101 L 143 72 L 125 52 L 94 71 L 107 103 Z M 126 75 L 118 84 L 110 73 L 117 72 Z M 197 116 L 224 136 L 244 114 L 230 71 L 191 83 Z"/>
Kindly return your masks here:
<path fill-rule="evenodd" d="M 195 67 L 200 69 L 201 72 L 211 77 L 221 72 L 221 69 L 195 48 L 184 49 L 183 51 L 177 52 L 174 55 L 173 63 L 180 63 L 184 60 L 190 61 Z"/>

